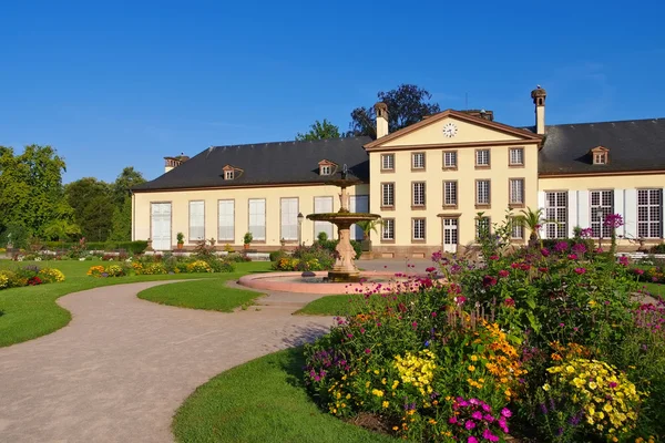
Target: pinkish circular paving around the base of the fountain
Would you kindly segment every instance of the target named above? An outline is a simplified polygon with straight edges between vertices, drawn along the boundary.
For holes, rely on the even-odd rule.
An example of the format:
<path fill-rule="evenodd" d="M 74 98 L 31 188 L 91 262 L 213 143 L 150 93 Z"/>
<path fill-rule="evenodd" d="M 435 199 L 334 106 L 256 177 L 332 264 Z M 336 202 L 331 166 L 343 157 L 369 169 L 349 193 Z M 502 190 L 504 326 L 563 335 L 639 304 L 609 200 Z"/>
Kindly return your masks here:
<path fill-rule="evenodd" d="M 413 281 L 415 278 L 419 277 L 403 274 L 396 275 L 390 271 L 361 271 L 360 282 L 329 282 L 325 280 L 328 277 L 327 270 L 308 274 L 309 277 L 303 277 L 303 272 L 249 274 L 241 277 L 238 284 L 260 290 L 336 295 L 365 292 L 367 289 L 375 288 L 382 292 L 390 292 L 398 287 L 410 286 L 409 281 Z"/>

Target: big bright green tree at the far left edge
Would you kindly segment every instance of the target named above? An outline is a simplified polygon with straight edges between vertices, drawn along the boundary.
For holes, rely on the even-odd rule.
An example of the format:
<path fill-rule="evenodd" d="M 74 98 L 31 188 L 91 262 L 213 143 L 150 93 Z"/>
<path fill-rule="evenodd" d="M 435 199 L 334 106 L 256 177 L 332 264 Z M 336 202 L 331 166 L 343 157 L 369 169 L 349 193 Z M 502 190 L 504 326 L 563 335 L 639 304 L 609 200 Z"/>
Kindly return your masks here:
<path fill-rule="evenodd" d="M 20 155 L 0 146 L 0 230 L 21 227 L 43 237 L 53 220 L 74 224 L 62 188 L 64 171 L 64 159 L 51 146 L 29 145 Z"/>

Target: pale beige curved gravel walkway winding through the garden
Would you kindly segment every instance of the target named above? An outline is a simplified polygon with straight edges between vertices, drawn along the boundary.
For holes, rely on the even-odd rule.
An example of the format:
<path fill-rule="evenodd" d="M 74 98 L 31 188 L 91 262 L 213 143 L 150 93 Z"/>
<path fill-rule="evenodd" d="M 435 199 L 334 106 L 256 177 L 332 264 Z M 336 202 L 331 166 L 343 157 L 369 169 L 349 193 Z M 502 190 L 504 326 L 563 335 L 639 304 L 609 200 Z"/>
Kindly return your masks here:
<path fill-rule="evenodd" d="M 198 385 L 332 323 L 290 315 L 320 296 L 276 292 L 234 313 L 136 298 L 172 282 L 64 296 L 69 326 L 0 349 L 0 441 L 171 442 L 172 416 Z"/>

